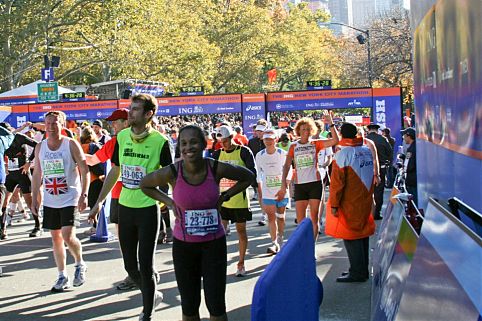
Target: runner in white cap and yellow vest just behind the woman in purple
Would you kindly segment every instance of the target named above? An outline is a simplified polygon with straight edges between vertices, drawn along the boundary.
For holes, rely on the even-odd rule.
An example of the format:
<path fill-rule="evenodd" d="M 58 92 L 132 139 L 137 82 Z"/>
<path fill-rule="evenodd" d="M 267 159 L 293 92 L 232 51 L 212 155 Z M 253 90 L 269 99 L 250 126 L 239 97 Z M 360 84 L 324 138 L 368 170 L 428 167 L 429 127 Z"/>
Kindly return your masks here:
<path fill-rule="evenodd" d="M 256 166 L 254 164 L 254 157 L 249 148 L 245 146 L 236 145 L 233 142 L 233 131 L 228 126 L 219 127 L 218 137 L 221 139 L 223 149 L 215 151 L 213 158 L 230 163 L 232 165 L 243 166 L 251 170 L 256 175 Z M 253 184 L 256 182 L 253 181 Z M 229 179 L 222 179 L 220 183 L 221 192 L 226 192 L 236 184 L 236 181 Z M 236 276 L 246 275 L 244 266 L 244 258 L 246 256 L 246 249 L 248 248 L 248 235 L 246 234 L 246 221 L 252 220 L 252 213 L 249 206 L 249 195 L 247 191 L 231 197 L 229 201 L 223 203 L 221 207 L 221 217 L 223 218 L 223 225 L 226 229 L 229 221 L 236 223 L 236 231 L 238 232 L 239 240 L 239 261 L 236 270 Z"/>

